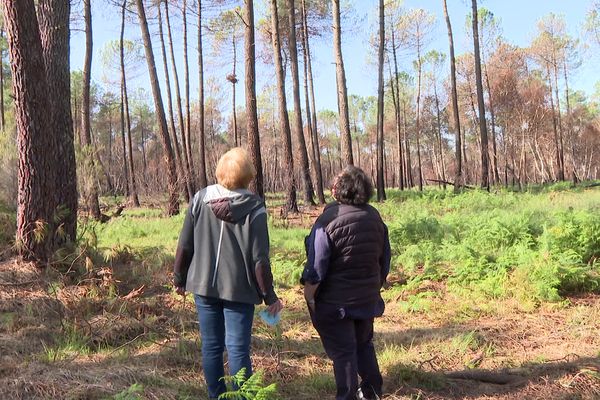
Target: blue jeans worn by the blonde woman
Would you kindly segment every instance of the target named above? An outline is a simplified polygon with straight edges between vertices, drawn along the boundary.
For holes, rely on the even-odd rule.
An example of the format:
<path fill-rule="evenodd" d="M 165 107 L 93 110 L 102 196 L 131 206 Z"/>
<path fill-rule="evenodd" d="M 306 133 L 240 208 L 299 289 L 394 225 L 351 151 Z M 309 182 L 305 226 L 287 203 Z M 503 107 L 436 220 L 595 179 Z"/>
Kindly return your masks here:
<path fill-rule="evenodd" d="M 209 399 L 216 399 L 227 388 L 223 378 L 223 351 L 227 348 L 229 374 L 235 375 L 246 368 L 252 375 L 250 339 L 254 304 L 237 303 L 194 295 L 200 336 L 202 338 L 202 368 L 208 386 Z"/>

